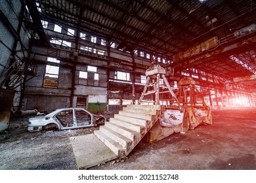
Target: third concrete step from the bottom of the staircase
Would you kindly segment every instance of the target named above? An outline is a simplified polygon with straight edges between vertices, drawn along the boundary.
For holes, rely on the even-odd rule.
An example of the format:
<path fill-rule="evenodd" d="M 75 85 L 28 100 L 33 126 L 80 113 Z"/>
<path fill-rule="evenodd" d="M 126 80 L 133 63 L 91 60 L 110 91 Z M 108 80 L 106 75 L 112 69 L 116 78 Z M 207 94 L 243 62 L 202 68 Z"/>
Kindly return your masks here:
<path fill-rule="evenodd" d="M 105 126 L 116 131 L 117 133 L 120 133 L 121 135 L 127 137 L 128 139 L 131 139 L 131 141 L 135 141 L 135 136 L 138 137 L 140 136 L 140 133 L 137 131 L 133 131 L 131 129 L 128 129 L 126 127 L 123 127 L 121 125 L 117 125 L 115 123 L 112 122 L 106 122 Z"/>

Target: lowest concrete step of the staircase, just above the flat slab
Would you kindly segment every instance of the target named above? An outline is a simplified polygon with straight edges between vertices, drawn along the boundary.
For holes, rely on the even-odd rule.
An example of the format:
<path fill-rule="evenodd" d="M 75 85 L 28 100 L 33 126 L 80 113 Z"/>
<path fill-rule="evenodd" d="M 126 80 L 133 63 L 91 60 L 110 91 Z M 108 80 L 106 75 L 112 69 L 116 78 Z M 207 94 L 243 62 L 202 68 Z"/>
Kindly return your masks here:
<path fill-rule="evenodd" d="M 125 152 L 124 146 L 121 146 L 121 144 L 108 137 L 108 135 L 102 133 L 102 131 L 95 130 L 94 134 L 96 135 L 96 137 L 98 137 L 98 139 L 100 139 L 100 141 L 108 146 L 108 148 L 110 148 L 110 150 L 112 150 L 114 154 L 116 154 L 116 156 L 119 156 L 121 152 Z"/>

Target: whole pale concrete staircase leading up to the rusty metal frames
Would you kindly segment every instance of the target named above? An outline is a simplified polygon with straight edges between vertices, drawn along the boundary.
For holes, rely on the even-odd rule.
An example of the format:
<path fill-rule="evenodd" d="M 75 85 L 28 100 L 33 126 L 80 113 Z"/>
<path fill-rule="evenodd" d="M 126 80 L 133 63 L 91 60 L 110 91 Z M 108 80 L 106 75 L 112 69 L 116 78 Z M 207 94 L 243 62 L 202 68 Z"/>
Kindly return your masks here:
<path fill-rule="evenodd" d="M 94 133 L 121 158 L 135 148 L 160 116 L 160 105 L 127 105 Z"/>

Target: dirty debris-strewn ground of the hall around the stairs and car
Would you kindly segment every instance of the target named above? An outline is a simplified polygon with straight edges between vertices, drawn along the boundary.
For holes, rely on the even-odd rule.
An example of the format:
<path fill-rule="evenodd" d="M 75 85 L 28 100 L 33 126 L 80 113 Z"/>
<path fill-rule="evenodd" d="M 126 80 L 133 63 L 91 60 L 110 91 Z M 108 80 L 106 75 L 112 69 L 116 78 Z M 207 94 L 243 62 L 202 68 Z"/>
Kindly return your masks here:
<path fill-rule="evenodd" d="M 213 110 L 212 114 L 213 125 L 201 124 L 153 143 L 143 139 L 126 159 L 89 169 L 256 170 L 256 108 Z M 27 124 L 28 116 L 11 119 L 9 133 L 1 135 L 0 169 L 75 170 L 69 137 L 98 129 L 29 133 Z"/>

